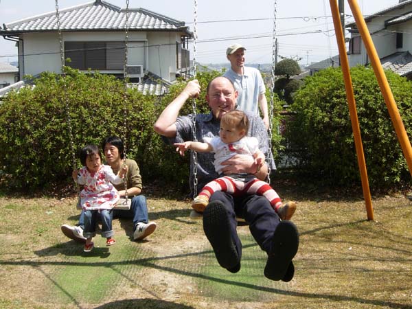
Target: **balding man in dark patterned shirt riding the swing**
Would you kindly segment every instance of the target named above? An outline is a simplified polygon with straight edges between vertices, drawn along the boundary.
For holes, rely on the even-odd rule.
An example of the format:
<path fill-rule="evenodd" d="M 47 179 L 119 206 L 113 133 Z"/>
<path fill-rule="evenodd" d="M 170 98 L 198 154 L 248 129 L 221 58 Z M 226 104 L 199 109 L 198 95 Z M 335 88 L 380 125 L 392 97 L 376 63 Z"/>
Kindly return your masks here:
<path fill-rule="evenodd" d="M 155 131 L 162 135 L 169 144 L 193 140 L 193 115 L 179 116 L 183 104 L 196 98 L 201 93 L 197 80 L 188 82 L 185 89 L 163 110 L 155 123 Z M 196 139 L 203 141 L 203 137 L 219 135 L 220 118 L 225 113 L 236 108 L 238 93 L 231 81 L 225 77 L 211 80 L 207 86 L 206 100 L 211 113 L 196 115 Z M 268 136 L 262 119 L 258 115 L 247 114 L 250 122 L 249 136 L 259 140 L 259 148 L 266 158 L 271 156 L 268 147 Z M 217 178 L 214 169 L 214 154 L 199 152 L 197 164 L 197 192 Z M 273 160 L 271 160 L 273 162 Z M 193 179 L 193 165 L 191 158 L 191 179 Z M 249 156 L 235 155 L 223 163 L 225 174 L 248 173 L 258 179 L 266 179 L 268 165 L 259 168 Z M 275 168 L 275 165 L 271 166 Z M 194 187 L 191 181 L 192 194 Z M 203 230 L 214 249 L 220 266 L 227 268 L 231 273 L 240 270 L 242 244 L 236 231 L 238 222 L 236 216 L 244 218 L 249 223 L 249 229 L 260 248 L 268 254 L 264 275 L 268 279 L 289 282 L 295 273 L 293 258 L 299 247 L 297 228 L 290 221 L 281 221 L 271 204 L 263 196 L 249 195 L 233 197 L 225 192 L 214 193 L 203 213 Z"/>

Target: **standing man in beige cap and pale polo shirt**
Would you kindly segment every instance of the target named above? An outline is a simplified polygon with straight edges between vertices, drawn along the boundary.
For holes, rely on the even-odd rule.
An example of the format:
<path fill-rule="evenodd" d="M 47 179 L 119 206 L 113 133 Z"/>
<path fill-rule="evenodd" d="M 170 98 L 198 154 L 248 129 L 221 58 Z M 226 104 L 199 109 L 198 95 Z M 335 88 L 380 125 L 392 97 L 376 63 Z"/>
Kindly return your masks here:
<path fill-rule="evenodd" d="M 266 130 L 269 128 L 268 102 L 266 100 L 266 87 L 258 69 L 244 66 L 244 48 L 234 44 L 226 49 L 227 60 L 231 68 L 223 74 L 229 78 L 238 91 L 238 109 L 259 115 L 258 105 Z"/>

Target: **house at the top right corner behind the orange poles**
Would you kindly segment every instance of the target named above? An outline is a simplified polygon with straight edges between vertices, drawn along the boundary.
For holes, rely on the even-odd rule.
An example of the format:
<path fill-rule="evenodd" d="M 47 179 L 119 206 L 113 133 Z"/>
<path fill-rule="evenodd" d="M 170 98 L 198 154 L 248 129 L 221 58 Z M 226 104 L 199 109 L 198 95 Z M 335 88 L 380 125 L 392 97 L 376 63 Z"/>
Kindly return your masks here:
<path fill-rule="evenodd" d="M 376 52 L 384 69 L 391 69 L 400 76 L 412 78 L 412 0 L 400 0 L 398 4 L 365 16 Z M 350 32 L 348 60 L 350 67 L 367 65 L 365 45 L 356 23 L 348 23 Z"/>

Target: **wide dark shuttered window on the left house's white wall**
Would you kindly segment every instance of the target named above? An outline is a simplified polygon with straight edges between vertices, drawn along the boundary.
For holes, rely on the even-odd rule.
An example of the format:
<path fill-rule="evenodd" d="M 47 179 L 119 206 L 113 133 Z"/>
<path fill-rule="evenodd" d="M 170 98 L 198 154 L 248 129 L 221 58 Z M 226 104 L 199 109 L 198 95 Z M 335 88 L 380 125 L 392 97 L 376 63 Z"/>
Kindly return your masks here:
<path fill-rule="evenodd" d="M 122 70 L 124 42 L 65 42 L 69 67 L 80 70 Z"/>

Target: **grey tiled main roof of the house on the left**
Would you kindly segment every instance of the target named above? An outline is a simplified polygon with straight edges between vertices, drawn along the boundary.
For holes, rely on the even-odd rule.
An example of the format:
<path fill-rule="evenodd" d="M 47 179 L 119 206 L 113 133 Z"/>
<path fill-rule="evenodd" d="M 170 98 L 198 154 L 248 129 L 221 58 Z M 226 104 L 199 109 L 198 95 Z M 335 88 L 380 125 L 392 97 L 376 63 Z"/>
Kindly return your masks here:
<path fill-rule="evenodd" d="M 72 6 L 59 11 L 62 31 L 124 31 L 126 10 L 102 0 Z M 144 8 L 129 9 L 130 31 L 181 31 L 192 34 L 183 21 L 151 12 Z M 58 30 L 56 12 L 32 16 L 3 24 L 1 35 L 25 32 L 50 32 Z"/>

